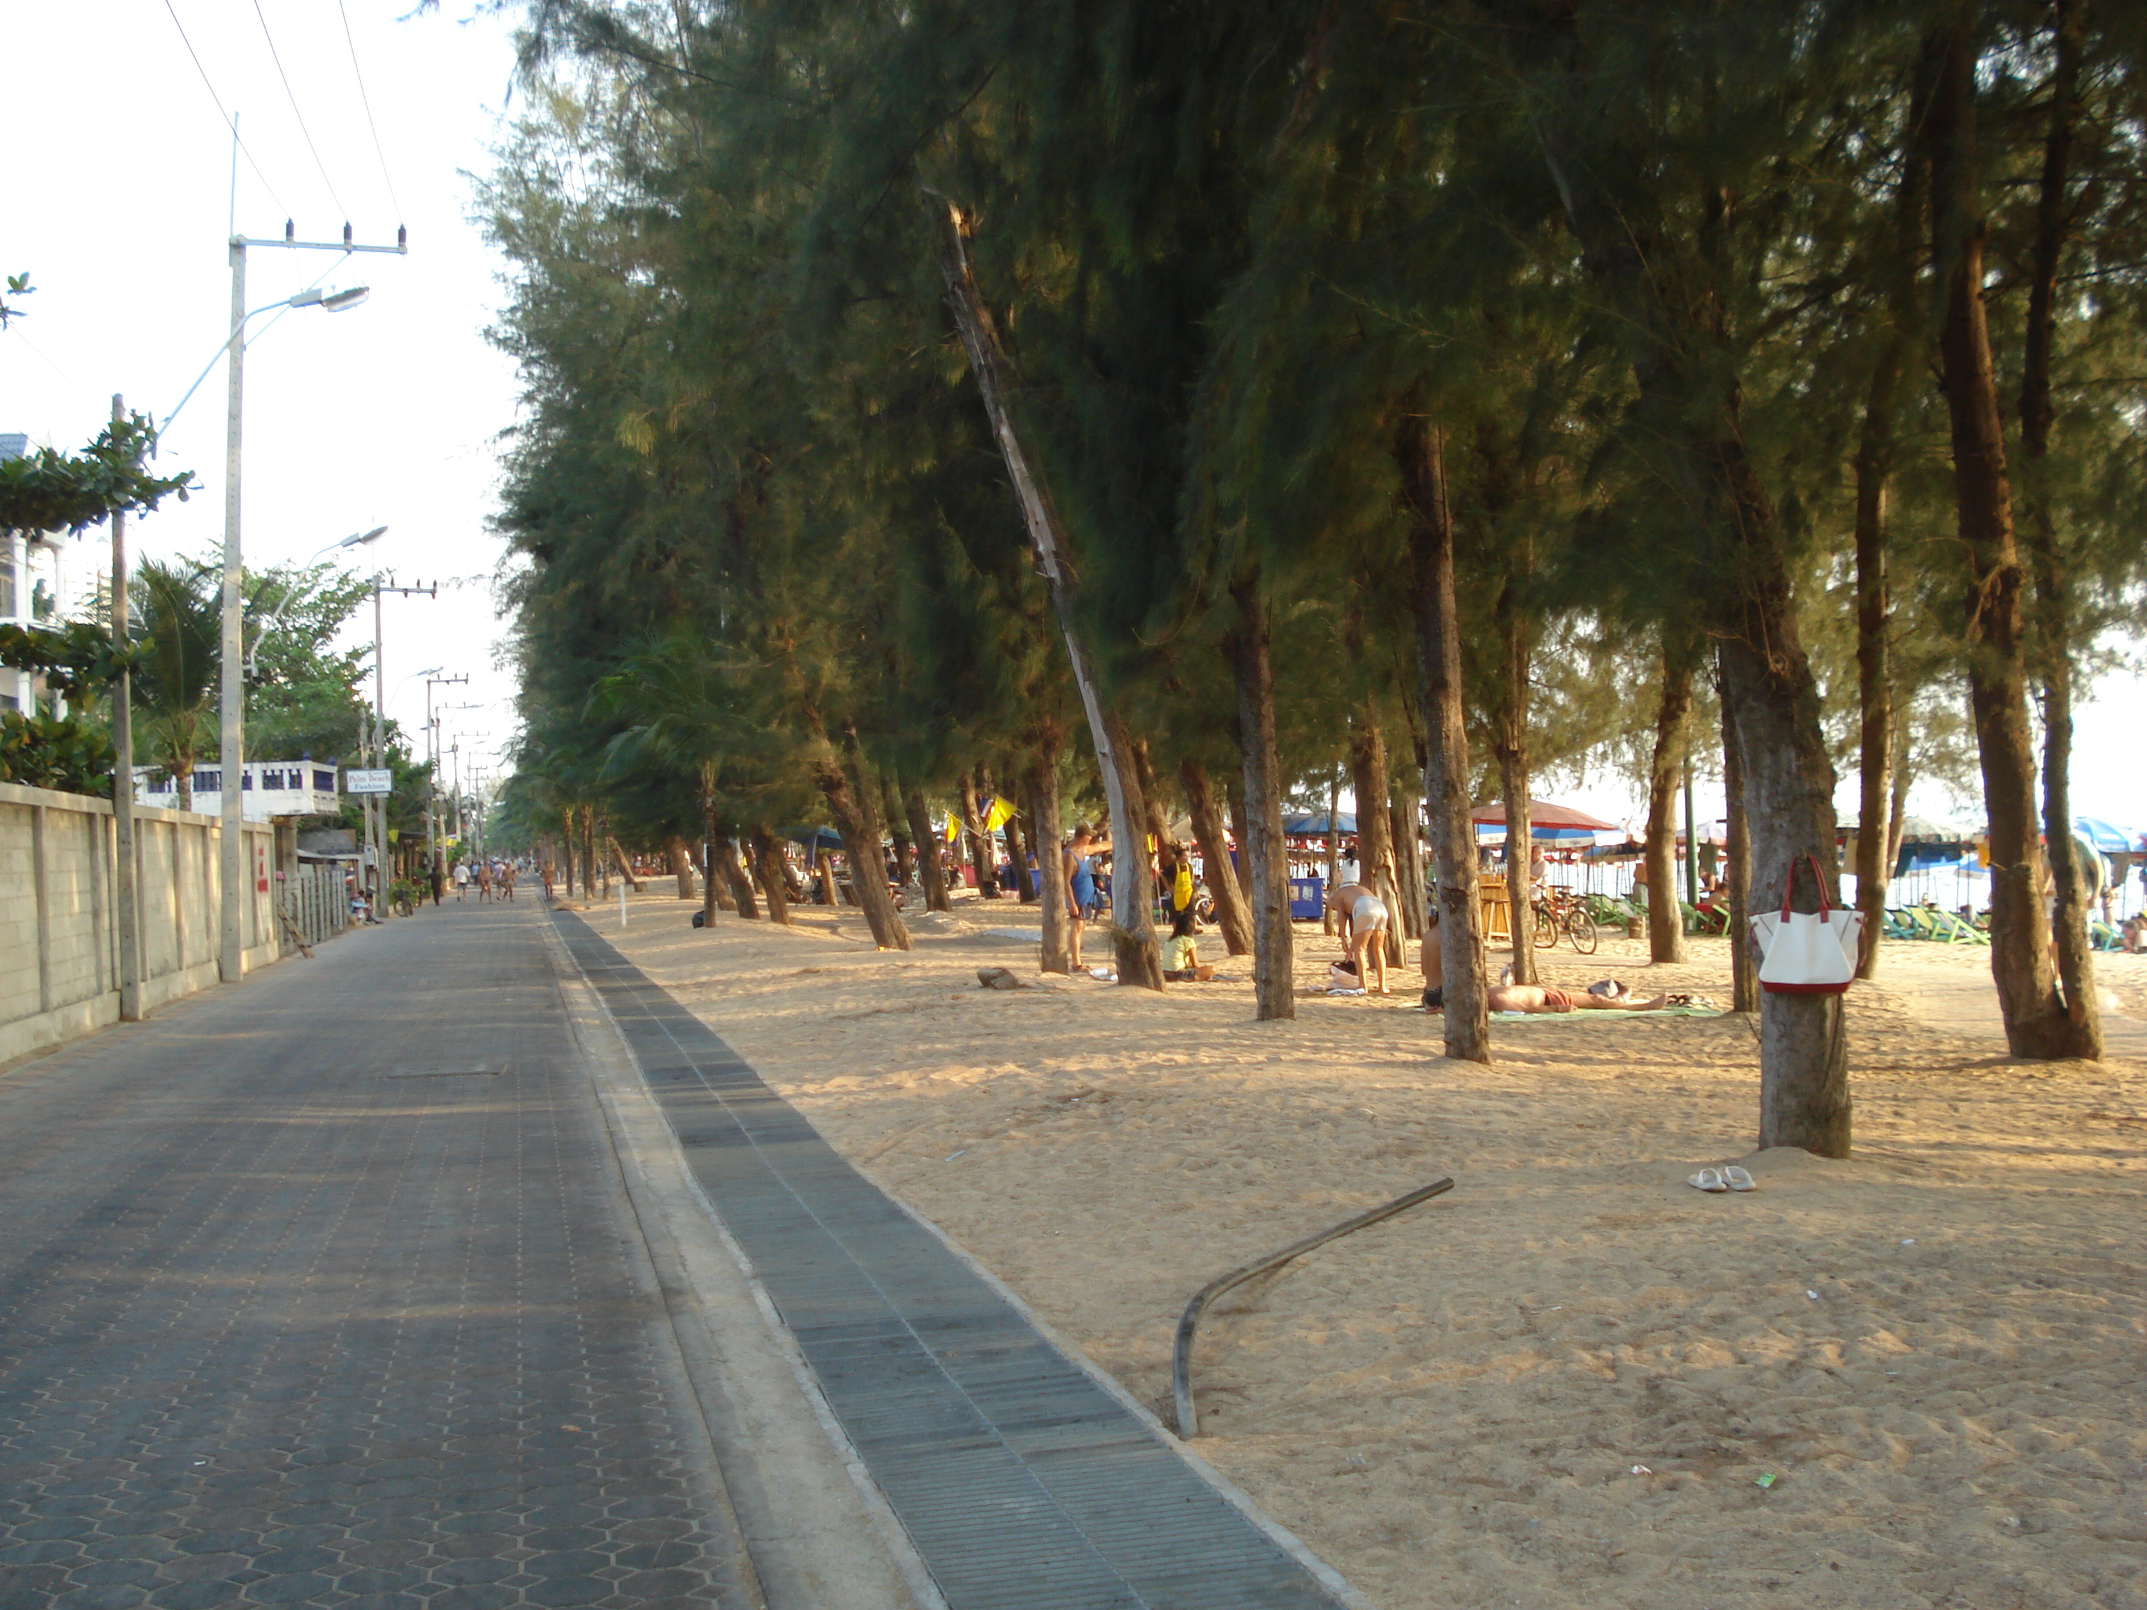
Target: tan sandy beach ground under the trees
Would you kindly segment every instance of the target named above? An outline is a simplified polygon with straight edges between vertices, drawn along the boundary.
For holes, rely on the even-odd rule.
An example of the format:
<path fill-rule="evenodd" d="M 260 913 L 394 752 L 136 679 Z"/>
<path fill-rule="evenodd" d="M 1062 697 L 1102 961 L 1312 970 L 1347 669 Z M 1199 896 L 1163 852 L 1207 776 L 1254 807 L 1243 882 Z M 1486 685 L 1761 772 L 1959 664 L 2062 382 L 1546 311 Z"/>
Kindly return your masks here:
<path fill-rule="evenodd" d="M 1232 1292 L 1196 1357 L 1198 1451 L 1383 1610 L 2147 1610 L 2147 957 L 2098 957 L 2128 1054 L 2027 1065 L 1973 1022 L 1988 953 L 1892 945 L 1851 994 L 1857 1155 L 1821 1161 L 1750 1155 L 1737 1018 L 1496 1022 L 1475 1067 L 1415 957 L 1254 1024 L 1247 960 L 981 990 L 1035 979 L 1013 902 L 912 914 L 910 953 L 689 910 L 588 919 L 1166 1419 L 1207 1279 L 1456 1179 Z M 1301 987 L 1338 953 L 1299 925 Z M 1544 972 L 1724 996 L 1728 951 Z M 1685 1185 L 1724 1159 L 1758 1189 Z"/>

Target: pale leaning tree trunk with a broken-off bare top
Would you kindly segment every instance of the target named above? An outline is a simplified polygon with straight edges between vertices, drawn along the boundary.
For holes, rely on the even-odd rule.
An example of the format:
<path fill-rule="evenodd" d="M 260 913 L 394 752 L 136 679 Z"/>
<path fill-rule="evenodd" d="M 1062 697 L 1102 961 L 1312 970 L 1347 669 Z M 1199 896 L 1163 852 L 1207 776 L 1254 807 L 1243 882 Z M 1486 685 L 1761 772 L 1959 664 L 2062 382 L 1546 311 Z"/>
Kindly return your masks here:
<path fill-rule="evenodd" d="M 970 374 L 977 376 L 977 391 L 983 412 L 992 423 L 1001 457 L 1007 464 L 1007 479 L 1013 481 L 1016 500 L 1022 507 L 1022 522 L 1037 550 L 1037 569 L 1043 573 L 1043 588 L 1058 618 L 1058 635 L 1065 642 L 1067 668 L 1080 689 L 1082 711 L 1089 717 L 1089 736 L 1095 743 L 1097 766 L 1104 773 L 1104 796 L 1110 801 L 1112 833 L 1112 876 L 1110 917 L 1112 949 L 1119 962 L 1119 983 L 1149 990 L 1164 987 L 1164 957 L 1155 942 L 1155 921 L 1151 908 L 1155 891 L 1140 852 L 1146 809 L 1140 799 L 1140 777 L 1127 753 L 1127 730 L 1119 708 L 1104 700 L 1097 676 L 1093 644 L 1082 625 L 1080 575 L 1074 569 L 1065 526 L 1050 504 L 1028 453 L 1013 429 L 1007 401 L 1011 365 L 998 339 L 992 309 L 977 290 L 977 279 L 968 264 L 970 217 L 960 208 L 940 202 L 934 206 L 940 243 L 940 277 L 947 283 L 947 307 L 953 311 L 955 328 L 962 333 L 962 348 L 968 354 Z"/>

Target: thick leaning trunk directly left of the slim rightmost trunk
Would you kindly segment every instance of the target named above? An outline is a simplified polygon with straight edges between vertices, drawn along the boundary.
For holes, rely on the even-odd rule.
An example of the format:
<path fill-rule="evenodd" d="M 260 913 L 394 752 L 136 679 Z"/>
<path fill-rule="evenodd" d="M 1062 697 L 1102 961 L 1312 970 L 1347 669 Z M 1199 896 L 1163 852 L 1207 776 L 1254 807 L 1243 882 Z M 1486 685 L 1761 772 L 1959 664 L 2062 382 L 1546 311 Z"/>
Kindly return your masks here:
<path fill-rule="evenodd" d="M 1984 311 L 1984 213 L 1975 135 L 1975 28 L 1934 41 L 1930 148 L 1932 258 L 1941 286 L 1939 367 L 1954 442 L 1954 504 L 1967 554 L 1969 711 L 1990 814 L 1990 972 L 2014 1056 L 2078 1056 L 2050 966 L 2027 723 L 2022 571 L 2005 429 Z"/>

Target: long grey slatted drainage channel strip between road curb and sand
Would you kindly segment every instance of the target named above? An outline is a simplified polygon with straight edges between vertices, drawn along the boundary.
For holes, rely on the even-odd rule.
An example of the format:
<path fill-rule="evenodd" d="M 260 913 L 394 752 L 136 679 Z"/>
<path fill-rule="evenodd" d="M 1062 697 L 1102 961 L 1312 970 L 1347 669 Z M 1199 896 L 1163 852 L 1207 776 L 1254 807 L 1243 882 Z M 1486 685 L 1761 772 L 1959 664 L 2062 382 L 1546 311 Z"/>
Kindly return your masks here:
<path fill-rule="evenodd" d="M 1256 1524 L 571 912 L 560 938 L 951 1610 L 1338 1610 Z"/>

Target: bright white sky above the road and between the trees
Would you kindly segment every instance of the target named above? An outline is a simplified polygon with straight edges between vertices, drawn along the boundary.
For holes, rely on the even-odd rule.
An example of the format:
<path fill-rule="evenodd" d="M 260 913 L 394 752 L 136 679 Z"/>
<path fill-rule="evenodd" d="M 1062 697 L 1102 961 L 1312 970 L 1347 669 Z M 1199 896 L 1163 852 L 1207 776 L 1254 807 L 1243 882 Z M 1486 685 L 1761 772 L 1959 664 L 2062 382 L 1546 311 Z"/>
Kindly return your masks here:
<path fill-rule="evenodd" d="M 251 324 L 247 348 L 243 543 L 251 565 L 305 560 L 350 532 L 389 526 L 352 569 L 440 584 L 436 599 L 384 608 L 389 713 L 417 732 L 427 670 L 462 753 L 513 736 L 513 674 L 496 663 L 492 584 L 502 545 L 485 530 L 500 431 L 515 419 L 513 367 L 485 341 L 500 260 L 470 223 L 472 174 L 490 170 L 509 105 L 513 47 L 472 0 L 103 0 L 13 6 L 0 135 L 13 152 L 0 270 L 32 275 L 30 318 L 0 333 L 0 431 L 77 449 L 112 393 L 159 421 L 230 331 L 225 238 L 337 240 L 410 253 L 255 247 L 247 305 L 316 281 L 369 286 L 348 313 L 288 311 Z M 346 39 L 348 21 L 348 39 Z M 189 52 L 191 43 L 191 52 Z M 206 84 L 204 84 L 206 77 Z M 361 92 L 363 82 L 363 92 Z M 213 86 L 213 88 L 210 88 Z M 232 185 L 238 114 L 247 155 Z M 296 109 L 294 109 L 296 103 Z M 371 118 L 367 118 L 367 105 Z M 376 148 L 378 133 L 378 148 Z M 213 556 L 223 532 L 223 374 L 178 414 L 159 468 L 191 468 L 202 492 L 133 526 L 150 556 Z M 109 562 L 73 543 L 71 582 Z M 365 612 L 369 614 L 369 612 Z M 371 620 L 359 623 L 369 640 Z M 2074 801 L 2147 829 L 2147 657 L 2080 704 Z M 1642 814 L 1625 779 L 1548 779 L 1546 792 L 1612 822 Z M 1722 816 L 1703 779 L 1698 816 Z M 1855 775 L 1836 796 L 1855 816 Z M 1980 807 L 1919 786 L 1909 809 L 1973 826 Z"/>

